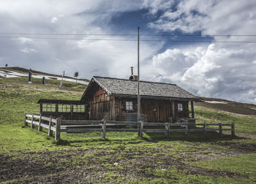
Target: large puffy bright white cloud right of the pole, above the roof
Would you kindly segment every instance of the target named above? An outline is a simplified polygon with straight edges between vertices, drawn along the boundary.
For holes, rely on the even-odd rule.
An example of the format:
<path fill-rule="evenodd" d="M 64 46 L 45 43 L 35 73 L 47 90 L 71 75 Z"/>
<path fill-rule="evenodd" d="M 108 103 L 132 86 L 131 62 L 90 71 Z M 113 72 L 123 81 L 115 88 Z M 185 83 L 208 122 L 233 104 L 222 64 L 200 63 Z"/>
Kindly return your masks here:
<path fill-rule="evenodd" d="M 154 80 L 178 83 L 199 96 L 254 101 L 256 66 L 243 57 L 248 54 L 246 50 L 227 50 L 214 44 L 206 50 L 166 50 L 153 58 L 157 68 Z"/>

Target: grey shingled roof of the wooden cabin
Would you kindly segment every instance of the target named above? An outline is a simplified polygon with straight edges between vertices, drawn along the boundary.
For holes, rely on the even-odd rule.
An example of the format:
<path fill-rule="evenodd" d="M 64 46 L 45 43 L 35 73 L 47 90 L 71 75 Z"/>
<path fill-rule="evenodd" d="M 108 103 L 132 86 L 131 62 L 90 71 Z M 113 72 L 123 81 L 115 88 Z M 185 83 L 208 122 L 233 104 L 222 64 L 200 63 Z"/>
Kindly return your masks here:
<path fill-rule="evenodd" d="M 93 82 L 97 83 L 111 96 L 136 97 L 138 94 L 138 82 L 134 80 L 94 76 L 91 79 L 91 83 Z M 83 97 L 86 96 L 86 91 Z M 146 81 L 140 81 L 140 96 L 151 99 L 190 99 L 194 101 L 198 99 L 198 97 L 185 91 L 178 85 Z"/>

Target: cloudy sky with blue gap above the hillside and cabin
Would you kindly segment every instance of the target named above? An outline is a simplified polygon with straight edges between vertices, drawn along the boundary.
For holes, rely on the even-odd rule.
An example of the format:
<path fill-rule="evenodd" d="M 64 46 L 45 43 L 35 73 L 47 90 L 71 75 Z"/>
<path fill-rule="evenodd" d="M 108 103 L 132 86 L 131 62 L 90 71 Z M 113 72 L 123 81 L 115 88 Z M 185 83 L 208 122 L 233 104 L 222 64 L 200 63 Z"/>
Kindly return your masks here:
<path fill-rule="evenodd" d="M 0 66 L 88 79 L 137 72 L 137 42 L 120 39 L 140 26 L 141 40 L 168 41 L 140 42 L 142 80 L 256 104 L 255 0 L 2 0 L 0 25 Z"/>

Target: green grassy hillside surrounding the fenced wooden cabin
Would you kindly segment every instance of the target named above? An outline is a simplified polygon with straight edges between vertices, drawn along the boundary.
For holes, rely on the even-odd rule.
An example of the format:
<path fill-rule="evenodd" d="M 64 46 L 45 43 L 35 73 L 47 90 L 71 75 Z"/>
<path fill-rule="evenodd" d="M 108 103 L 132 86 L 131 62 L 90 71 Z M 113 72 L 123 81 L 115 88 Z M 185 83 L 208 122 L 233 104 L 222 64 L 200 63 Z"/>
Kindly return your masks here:
<path fill-rule="evenodd" d="M 256 116 L 195 104 L 197 122 L 236 123 L 236 137 L 219 134 L 61 134 L 23 127 L 39 99 L 79 100 L 86 85 L 26 78 L 0 79 L 0 182 L 255 183 Z M 242 105 L 242 104 L 241 104 Z"/>

